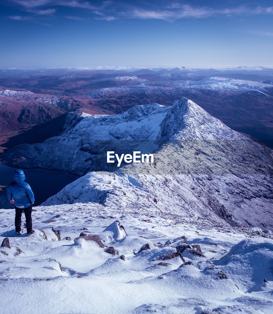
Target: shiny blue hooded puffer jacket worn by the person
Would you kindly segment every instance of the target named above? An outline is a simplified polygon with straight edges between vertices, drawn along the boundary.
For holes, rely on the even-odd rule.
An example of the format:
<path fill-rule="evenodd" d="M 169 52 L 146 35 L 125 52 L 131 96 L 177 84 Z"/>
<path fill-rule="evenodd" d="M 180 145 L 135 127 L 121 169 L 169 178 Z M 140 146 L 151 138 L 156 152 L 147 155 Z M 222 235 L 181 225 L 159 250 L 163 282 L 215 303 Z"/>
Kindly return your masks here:
<path fill-rule="evenodd" d="M 15 206 L 19 208 L 27 208 L 34 203 L 34 194 L 28 183 L 24 182 L 25 174 L 23 170 L 17 169 L 13 174 L 13 182 L 8 185 L 8 200 L 14 200 Z"/>

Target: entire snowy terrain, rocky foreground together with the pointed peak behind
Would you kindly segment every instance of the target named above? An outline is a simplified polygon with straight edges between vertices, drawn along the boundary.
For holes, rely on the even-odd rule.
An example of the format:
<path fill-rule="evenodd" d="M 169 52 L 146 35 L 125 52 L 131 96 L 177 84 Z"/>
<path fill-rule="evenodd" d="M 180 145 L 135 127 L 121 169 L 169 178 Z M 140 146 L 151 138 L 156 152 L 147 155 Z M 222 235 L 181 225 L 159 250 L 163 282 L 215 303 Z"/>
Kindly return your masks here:
<path fill-rule="evenodd" d="M 271 314 L 272 150 L 182 98 L 72 115 L 60 136 L 6 156 L 83 174 L 109 143 L 155 162 L 86 173 L 34 208 L 30 237 L 0 210 L 1 309 Z"/>

